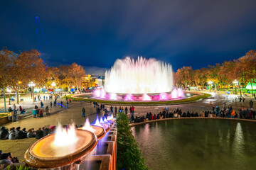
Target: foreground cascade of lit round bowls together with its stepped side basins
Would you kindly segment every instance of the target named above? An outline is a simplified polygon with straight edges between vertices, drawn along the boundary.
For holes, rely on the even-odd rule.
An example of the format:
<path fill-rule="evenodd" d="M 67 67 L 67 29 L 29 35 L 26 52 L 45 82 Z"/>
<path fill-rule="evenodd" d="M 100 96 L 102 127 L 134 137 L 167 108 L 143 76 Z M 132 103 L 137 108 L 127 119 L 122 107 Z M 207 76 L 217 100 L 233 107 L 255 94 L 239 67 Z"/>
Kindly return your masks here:
<path fill-rule="evenodd" d="M 59 124 L 27 149 L 24 161 L 37 169 L 115 169 L 116 135 L 112 115 L 92 124 L 87 118 L 81 128 Z"/>

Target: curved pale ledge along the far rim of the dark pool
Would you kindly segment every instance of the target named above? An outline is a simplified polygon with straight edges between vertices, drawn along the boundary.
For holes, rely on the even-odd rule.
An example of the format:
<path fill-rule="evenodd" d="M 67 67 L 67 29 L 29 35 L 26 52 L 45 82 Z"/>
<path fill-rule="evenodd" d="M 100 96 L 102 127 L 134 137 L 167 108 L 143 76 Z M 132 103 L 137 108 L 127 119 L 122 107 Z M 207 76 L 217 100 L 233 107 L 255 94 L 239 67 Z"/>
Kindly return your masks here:
<path fill-rule="evenodd" d="M 208 117 L 186 117 L 186 118 L 164 118 L 164 119 L 156 119 L 156 120 L 146 120 L 141 123 L 129 123 L 130 126 L 135 126 L 135 125 L 142 125 L 145 123 L 154 123 L 154 122 L 159 122 L 159 121 L 164 121 L 164 120 L 178 120 L 178 119 L 223 119 L 223 120 L 242 120 L 242 121 L 247 121 L 247 122 L 255 122 L 256 120 L 250 120 L 250 119 L 240 119 L 240 118 L 208 118 Z"/>

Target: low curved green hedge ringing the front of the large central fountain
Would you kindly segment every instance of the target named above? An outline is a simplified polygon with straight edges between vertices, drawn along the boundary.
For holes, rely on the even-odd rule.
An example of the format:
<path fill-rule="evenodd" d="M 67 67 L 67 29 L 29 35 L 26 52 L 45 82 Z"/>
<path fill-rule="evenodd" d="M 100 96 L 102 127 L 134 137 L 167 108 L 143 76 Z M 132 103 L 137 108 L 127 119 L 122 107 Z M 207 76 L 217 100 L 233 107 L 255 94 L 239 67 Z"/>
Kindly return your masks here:
<path fill-rule="evenodd" d="M 210 94 L 204 94 L 200 96 L 192 96 L 191 98 L 184 98 L 181 100 L 174 100 L 174 101 L 105 101 L 99 100 L 95 98 L 72 98 L 71 96 L 67 96 L 68 98 L 72 98 L 74 101 L 97 101 L 97 103 L 106 103 L 106 104 L 116 104 L 116 105 L 134 105 L 134 106 L 155 106 L 155 105 L 175 105 L 175 104 L 182 104 L 182 103 L 190 103 L 193 101 L 201 100 L 202 98 L 208 98 Z"/>

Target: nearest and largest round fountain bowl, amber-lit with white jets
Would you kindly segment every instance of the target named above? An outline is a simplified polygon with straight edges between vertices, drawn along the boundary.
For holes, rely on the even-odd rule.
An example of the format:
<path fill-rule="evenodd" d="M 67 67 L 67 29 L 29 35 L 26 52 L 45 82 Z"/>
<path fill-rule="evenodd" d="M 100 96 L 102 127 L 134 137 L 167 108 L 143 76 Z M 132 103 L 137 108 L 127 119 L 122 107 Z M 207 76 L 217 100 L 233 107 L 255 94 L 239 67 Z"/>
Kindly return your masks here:
<path fill-rule="evenodd" d="M 89 130 L 68 130 L 58 125 L 56 133 L 43 137 L 29 147 L 24 155 L 28 166 L 50 169 L 80 162 L 97 145 L 97 136 Z"/>

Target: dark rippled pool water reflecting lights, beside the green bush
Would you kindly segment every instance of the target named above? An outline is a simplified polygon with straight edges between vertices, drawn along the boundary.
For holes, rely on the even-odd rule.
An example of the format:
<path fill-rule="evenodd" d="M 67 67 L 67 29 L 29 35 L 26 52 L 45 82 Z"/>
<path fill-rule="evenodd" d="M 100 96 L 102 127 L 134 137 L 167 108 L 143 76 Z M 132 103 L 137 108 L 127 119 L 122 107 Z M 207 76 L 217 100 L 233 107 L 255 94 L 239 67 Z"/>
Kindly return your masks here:
<path fill-rule="evenodd" d="M 166 120 L 132 127 L 149 169 L 256 169 L 256 123 Z"/>

